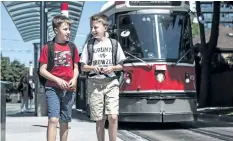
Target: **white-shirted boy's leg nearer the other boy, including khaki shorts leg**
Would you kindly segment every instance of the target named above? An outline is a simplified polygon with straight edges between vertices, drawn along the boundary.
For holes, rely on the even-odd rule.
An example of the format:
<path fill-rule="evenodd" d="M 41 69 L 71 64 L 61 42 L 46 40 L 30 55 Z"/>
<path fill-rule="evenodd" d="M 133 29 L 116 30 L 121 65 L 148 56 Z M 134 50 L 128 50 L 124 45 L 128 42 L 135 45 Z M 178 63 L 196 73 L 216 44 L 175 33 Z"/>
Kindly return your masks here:
<path fill-rule="evenodd" d="M 90 118 L 96 121 L 97 139 L 98 141 L 104 141 L 104 95 L 100 84 L 101 82 L 88 81 L 87 91 L 89 95 Z"/>

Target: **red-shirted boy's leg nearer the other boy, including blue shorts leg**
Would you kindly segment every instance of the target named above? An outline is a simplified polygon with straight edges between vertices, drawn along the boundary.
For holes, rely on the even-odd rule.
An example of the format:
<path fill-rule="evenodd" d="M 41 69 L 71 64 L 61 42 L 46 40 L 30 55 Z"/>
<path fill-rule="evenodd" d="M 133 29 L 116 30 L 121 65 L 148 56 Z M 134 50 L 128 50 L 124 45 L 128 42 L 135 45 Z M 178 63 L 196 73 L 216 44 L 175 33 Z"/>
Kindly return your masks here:
<path fill-rule="evenodd" d="M 72 91 L 63 91 L 60 93 L 61 99 L 61 119 L 60 119 L 60 141 L 67 141 L 68 123 L 72 118 L 72 106 L 75 100 L 75 93 Z"/>

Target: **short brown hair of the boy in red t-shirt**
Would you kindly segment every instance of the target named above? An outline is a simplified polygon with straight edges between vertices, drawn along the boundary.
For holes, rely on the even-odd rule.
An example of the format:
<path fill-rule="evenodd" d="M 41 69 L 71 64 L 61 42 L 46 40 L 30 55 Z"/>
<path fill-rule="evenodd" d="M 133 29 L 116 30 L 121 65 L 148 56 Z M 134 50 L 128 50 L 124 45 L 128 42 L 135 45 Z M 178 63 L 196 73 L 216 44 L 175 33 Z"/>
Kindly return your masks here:
<path fill-rule="evenodd" d="M 59 28 L 62 23 L 67 23 L 71 26 L 72 21 L 63 15 L 58 15 L 58 16 L 53 17 L 53 20 L 52 20 L 53 30 L 55 28 Z"/>

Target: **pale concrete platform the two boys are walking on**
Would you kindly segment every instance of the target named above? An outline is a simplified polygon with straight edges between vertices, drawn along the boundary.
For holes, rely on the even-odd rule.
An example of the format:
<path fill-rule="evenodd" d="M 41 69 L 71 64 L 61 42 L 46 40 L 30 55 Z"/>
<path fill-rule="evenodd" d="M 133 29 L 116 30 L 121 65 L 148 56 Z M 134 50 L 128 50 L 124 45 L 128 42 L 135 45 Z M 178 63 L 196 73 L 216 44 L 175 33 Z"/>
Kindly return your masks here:
<path fill-rule="evenodd" d="M 68 141 L 97 141 L 95 122 L 73 109 L 73 120 L 69 124 Z M 47 117 L 36 117 L 33 111 L 21 113 L 20 104 L 7 104 L 6 141 L 46 141 Z M 59 133 L 59 128 L 57 130 Z M 108 141 L 108 131 L 105 132 Z M 59 141 L 59 134 L 57 134 Z M 122 141 L 118 138 L 118 141 Z"/>

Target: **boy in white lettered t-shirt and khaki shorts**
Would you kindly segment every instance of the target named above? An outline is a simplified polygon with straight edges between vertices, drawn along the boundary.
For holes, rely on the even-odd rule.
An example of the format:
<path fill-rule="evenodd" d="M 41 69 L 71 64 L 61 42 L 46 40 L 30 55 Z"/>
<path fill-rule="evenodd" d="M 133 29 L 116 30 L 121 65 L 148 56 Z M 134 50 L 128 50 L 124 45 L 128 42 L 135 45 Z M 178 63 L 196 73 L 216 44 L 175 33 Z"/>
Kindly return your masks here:
<path fill-rule="evenodd" d="M 91 33 L 94 37 L 93 59 L 88 63 L 87 44 L 84 46 L 80 63 L 81 69 L 89 72 L 87 91 L 90 103 L 91 119 L 96 121 L 98 141 L 104 140 L 104 117 L 108 115 L 109 140 L 116 141 L 119 111 L 119 82 L 115 71 L 123 69 L 125 55 L 118 43 L 116 65 L 112 60 L 112 44 L 106 36 L 108 17 L 93 15 L 90 19 Z"/>

